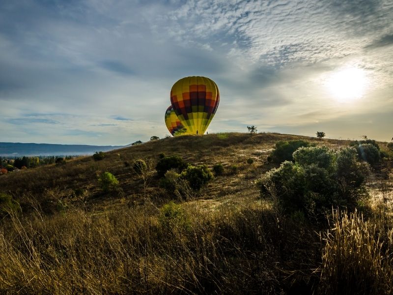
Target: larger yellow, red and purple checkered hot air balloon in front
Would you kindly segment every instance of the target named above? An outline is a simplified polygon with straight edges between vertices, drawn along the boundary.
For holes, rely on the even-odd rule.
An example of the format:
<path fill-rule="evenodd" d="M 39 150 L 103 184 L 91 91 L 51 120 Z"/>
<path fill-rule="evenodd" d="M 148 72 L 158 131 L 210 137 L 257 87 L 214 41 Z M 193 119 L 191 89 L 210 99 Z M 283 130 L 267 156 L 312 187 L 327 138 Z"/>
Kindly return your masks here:
<path fill-rule="evenodd" d="M 204 134 L 220 101 L 216 83 L 206 77 L 185 77 L 170 90 L 172 108 L 187 134 Z"/>

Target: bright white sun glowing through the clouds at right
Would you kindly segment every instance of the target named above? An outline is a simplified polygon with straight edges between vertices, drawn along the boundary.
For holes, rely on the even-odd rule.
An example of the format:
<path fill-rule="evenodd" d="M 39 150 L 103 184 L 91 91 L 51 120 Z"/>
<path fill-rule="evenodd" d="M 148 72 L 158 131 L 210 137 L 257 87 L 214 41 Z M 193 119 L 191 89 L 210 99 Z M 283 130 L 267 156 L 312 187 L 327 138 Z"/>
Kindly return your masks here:
<path fill-rule="evenodd" d="M 332 74 L 326 85 L 338 102 L 352 102 L 363 96 L 367 78 L 363 69 L 346 68 Z"/>

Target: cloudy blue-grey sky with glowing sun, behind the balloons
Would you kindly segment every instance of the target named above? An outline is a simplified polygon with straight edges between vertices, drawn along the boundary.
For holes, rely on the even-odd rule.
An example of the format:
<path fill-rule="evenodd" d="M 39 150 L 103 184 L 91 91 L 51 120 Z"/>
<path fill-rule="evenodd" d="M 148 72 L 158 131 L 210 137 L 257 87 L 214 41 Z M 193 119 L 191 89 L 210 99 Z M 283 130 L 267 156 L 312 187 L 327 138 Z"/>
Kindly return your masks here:
<path fill-rule="evenodd" d="M 2 0 L 0 142 L 169 135 L 170 89 L 220 89 L 207 131 L 393 136 L 392 0 Z"/>

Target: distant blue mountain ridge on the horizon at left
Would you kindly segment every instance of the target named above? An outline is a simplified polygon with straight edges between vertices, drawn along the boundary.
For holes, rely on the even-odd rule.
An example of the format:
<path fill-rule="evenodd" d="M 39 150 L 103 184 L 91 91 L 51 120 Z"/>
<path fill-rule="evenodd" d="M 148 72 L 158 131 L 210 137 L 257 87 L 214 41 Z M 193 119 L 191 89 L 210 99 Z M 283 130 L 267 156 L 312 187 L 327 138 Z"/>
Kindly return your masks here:
<path fill-rule="evenodd" d="M 1 143 L 1 157 L 90 155 L 96 151 L 109 151 L 123 146 L 53 145 Z"/>

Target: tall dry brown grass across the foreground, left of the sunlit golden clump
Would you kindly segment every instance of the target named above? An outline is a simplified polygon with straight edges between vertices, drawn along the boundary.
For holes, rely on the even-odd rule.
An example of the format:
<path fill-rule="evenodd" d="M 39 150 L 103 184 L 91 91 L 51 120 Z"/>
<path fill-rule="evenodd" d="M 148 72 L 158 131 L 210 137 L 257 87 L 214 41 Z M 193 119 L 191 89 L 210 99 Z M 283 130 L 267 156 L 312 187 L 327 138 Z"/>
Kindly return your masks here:
<path fill-rule="evenodd" d="M 14 214 L 0 230 L 0 294 L 280 294 L 293 286 L 312 288 L 308 283 L 316 276 L 307 265 L 318 250 L 309 246 L 310 232 L 296 232 L 255 204 L 246 200 L 214 212 L 185 207 L 181 222 L 162 222 L 165 216 L 151 203 L 103 214 Z"/>

